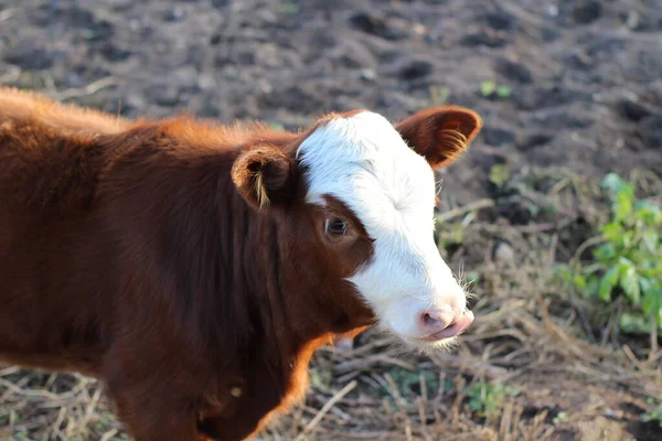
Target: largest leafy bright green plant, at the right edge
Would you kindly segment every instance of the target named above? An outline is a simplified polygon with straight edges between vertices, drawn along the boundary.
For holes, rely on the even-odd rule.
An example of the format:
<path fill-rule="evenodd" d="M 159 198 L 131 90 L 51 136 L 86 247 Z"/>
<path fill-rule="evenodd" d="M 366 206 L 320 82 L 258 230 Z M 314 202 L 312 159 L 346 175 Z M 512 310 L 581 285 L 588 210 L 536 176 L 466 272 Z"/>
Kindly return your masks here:
<path fill-rule="evenodd" d="M 624 299 L 621 331 L 662 329 L 662 209 L 651 201 L 638 200 L 632 183 L 615 173 L 607 174 L 601 186 L 611 202 L 611 219 L 600 226 L 595 261 L 562 267 L 559 275 L 601 302 Z"/>

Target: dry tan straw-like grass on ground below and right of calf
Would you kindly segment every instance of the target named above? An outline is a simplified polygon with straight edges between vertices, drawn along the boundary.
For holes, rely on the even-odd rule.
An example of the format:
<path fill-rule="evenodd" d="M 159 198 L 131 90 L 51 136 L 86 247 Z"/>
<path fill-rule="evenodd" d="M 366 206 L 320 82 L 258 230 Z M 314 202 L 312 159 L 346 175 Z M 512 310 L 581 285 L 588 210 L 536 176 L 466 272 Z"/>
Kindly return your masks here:
<path fill-rule="evenodd" d="M 662 429 L 640 417 L 651 407 L 647 398 L 662 397 L 661 353 L 650 354 L 647 338 L 600 338 L 587 319 L 590 305 L 559 292 L 552 276 L 555 261 L 575 255 L 575 219 L 601 216 L 591 189 L 558 174 L 545 193 L 528 192 L 541 206 L 554 202 L 556 215 L 523 227 L 451 208 L 446 220 L 463 216 L 465 255 L 447 258 L 473 259 L 480 273 L 477 320 L 460 345 L 433 356 L 403 354 L 371 331 L 353 349 L 324 348 L 313 359 L 306 402 L 259 439 L 659 439 Z M 484 252 L 504 240 L 510 258 Z M 8 367 L 0 370 L 0 439 L 106 441 L 126 434 L 99 383 Z"/>

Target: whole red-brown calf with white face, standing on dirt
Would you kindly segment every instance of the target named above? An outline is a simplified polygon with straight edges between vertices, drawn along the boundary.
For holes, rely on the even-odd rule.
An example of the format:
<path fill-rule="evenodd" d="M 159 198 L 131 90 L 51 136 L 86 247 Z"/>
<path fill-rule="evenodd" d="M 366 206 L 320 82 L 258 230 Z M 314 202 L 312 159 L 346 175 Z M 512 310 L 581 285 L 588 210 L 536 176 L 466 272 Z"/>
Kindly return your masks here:
<path fill-rule="evenodd" d="M 302 398 L 335 335 L 448 345 L 473 315 L 434 170 L 481 125 L 129 121 L 0 88 L 0 358 L 103 379 L 138 441 L 228 441 Z"/>

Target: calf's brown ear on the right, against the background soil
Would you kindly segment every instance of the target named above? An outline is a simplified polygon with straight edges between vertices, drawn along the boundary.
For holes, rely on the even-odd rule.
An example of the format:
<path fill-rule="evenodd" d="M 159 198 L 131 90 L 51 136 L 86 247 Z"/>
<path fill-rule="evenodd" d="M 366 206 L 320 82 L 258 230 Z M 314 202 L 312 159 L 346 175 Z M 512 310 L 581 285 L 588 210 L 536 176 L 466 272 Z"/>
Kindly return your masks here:
<path fill-rule="evenodd" d="M 395 128 L 433 169 L 440 169 L 451 164 L 469 147 L 482 128 L 482 119 L 463 107 L 441 106 L 412 115 Z"/>

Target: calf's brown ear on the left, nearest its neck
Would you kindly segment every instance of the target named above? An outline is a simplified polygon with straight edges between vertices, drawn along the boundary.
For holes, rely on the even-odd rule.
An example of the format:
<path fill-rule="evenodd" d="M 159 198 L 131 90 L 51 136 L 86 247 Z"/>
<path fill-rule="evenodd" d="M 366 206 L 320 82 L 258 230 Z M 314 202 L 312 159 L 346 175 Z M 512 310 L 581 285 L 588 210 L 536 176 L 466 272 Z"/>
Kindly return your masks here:
<path fill-rule="evenodd" d="M 261 144 L 239 154 L 232 166 L 232 180 L 248 204 L 261 208 L 293 196 L 295 170 L 282 150 Z"/>

